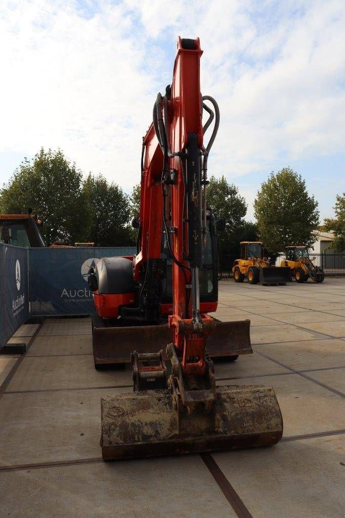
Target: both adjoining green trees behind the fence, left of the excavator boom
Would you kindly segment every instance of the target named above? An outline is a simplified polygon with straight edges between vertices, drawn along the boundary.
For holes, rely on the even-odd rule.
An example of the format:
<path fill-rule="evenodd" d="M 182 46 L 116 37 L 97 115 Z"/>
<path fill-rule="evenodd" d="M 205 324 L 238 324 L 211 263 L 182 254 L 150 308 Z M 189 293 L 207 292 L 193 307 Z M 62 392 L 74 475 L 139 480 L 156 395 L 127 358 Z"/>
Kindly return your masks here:
<path fill-rule="evenodd" d="M 41 149 L 24 159 L 0 191 L 0 213 L 38 212 L 42 237 L 74 244 L 93 241 L 97 246 L 125 246 L 135 242 L 129 220 L 128 197 L 102 175 L 82 173 L 61 150 Z"/>

